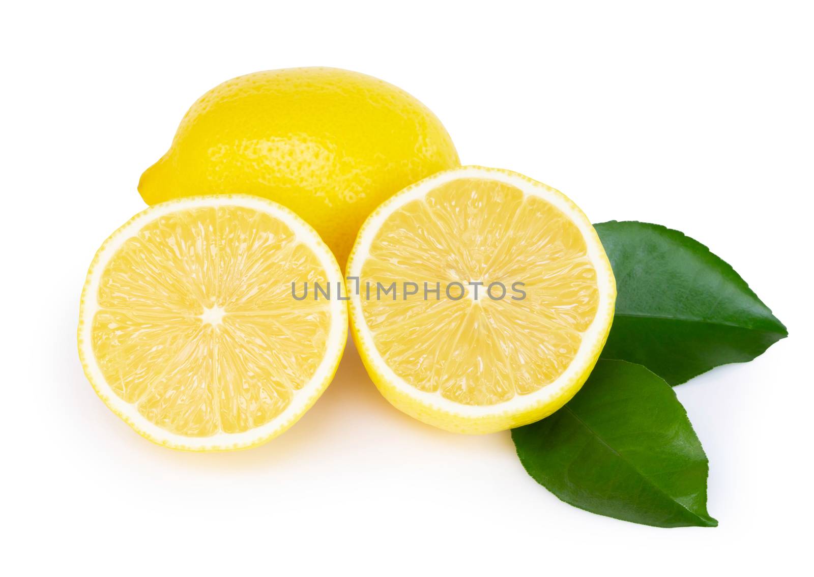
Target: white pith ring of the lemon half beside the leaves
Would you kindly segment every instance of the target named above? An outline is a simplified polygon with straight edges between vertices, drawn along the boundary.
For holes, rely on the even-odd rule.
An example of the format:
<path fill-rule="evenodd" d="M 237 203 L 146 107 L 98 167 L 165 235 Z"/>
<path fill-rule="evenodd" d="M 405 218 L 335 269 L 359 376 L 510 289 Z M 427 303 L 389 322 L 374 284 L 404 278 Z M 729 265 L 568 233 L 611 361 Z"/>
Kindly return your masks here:
<path fill-rule="evenodd" d="M 570 199 L 562 195 L 558 190 L 554 190 L 540 182 L 533 181 L 518 173 L 482 167 L 454 168 L 443 173 L 437 173 L 432 177 L 418 182 L 414 186 L 402 190 L 376 209 L 361 227 L 361 232 L 357 238 L 357 244 L 348 260 L 347 276 L 360 278 L 361 270 L 370 254 L 370 245 L 373 243 L 375 235 L 383 225 L 387 217 L 397 209 L 403 207 L 417 199 L 423 199 L 428 192 L 446 182 L 460 178 L 485 178 L 489 180 L 501 181 L 506 184 L 516 186 L 523 194 L 534 195 L 540 199 L 554 205 L 562 211 L 580 230 L 586 246 L 588 256 L 597 273 L 597 287 L 599 289 L 599 303 L 597 313 L 593 322 L 587 330 L 582 333 L 582 343 L 576 353 L 571 365 L 554 382 L 545 387 L 526 395 L 516 395 L 512 399 L 498 404 L 472 405 L 460 404 L 440 395 L 440 392 L 420 391 L 409 385 L 400 378 L 388 365 L 377 350 L 373 335 L 365 322 L 364 314 L 361 310 L 361 295 L 356 295 L 353 291 L 348 291 L 351 295 L 350 312 L 357 328 L 357 339 L 361 341 L 361 348 L 370 352 L 368 362 L 374 365 L 374 369 L 389 382 L 397 391 L 411 397 L 420 404 L 428 408 L 449 413 L 460 417 L 493 417 L 497 415 L 513 415 L 525 413 L 537 406 L 549 404 L 549 401 L 558 398 L 562 391 L 567 390 L 576 379 L 584 375 L 589 365 L 596 359 L 598 348 L 602 348 L 606 338 L 606 330 L 613 318 L 615 304 L 615 282 L 610 263 L 605 255 L 602 243 L 600 243 L 596 231 L 593 229 L 588 218 L 576 207 Z M 362 278 L 364 283 L 365 279 Z M 473 303 L 474 304 L 474 303 Z"/>

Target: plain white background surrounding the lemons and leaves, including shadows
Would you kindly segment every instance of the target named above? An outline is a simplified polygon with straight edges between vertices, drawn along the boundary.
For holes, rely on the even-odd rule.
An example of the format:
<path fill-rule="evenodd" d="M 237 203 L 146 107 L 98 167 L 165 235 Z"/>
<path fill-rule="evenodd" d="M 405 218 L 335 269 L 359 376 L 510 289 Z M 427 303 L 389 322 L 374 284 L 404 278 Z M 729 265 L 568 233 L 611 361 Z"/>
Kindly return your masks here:
<path fill-rule="evenodd" d="M 811 566 L 812 14 L 805 3 L 29 2 L 2 44 L 2 538 L 6 575 L 670 575 Z M 681 229 L 789 327 L 676 389 L 711 462 L 714 529 L 558 501 L 508 432 L 392 409 L 350 348 L 261 448 L 138 437 L 77 358 L 98 245 L 206 90 L 326 65 L 421 99 L 462 161 L 562 190 L 593 221 Z"/>

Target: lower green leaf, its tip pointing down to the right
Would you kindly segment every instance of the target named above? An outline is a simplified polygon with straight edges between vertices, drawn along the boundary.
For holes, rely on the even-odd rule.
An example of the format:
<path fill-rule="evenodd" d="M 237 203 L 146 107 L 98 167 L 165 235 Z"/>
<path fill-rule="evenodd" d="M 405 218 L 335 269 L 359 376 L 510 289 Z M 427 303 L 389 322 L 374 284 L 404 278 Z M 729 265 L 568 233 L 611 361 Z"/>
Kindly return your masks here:
<path fill-rule="evenodd" d="M 512 439 L 528 474 L 575 507 L 656 527 L 718 524 L 687 413 L 641 365 L 599 361 L 568 404 Z"/>

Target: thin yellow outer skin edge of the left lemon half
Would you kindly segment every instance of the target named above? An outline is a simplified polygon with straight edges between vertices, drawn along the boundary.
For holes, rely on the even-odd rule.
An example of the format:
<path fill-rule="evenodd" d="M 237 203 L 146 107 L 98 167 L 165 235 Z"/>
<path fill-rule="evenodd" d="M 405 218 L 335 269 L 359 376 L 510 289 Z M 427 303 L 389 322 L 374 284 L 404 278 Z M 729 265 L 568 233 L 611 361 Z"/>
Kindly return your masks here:
<path fill-rule="evenodd" d="M 230 198 L 240 199 L 242 195 L 228 195 Z M 190 200 L 201 200 L 206 201 L 206 197 L 200 197 L 199 199 L 190 199 Z M 173 205 L 178 203 L 178 201 L 168 201 L 167 203 L 162 203 L 161 206 L 164 205 Z M 88 269 L 87 276 L 85 278 L 85 284 L 82 286 L 82 294 L 79 304 L 79 325 L 77 327 L 77 348 L 79 352 L 79 360 L 82 365 L 82 370 L 85 372 L 85 377 L 90 382 L 91 387 L 93 387 L 94 392 L 96 395 L 103 401 L 107 408 L 112 411 L 112 413 L 116 414 L 116 417 L 119 417 L 122 421 L 127 423 L 133 431 L 137 432 L 138 435 L 141 435 L 151 443 L 160 445 L 161 447 L 165 448 L 172 448 L 177 451 L 186 451 L 186 452 L 227 452 L 227 451 L 239 451 L 247 448 L 254 448 L 258 447 L 261 444 L 265 444 L 269 442 L 271 439 L 282 435 L 284 432 L 288 431 L 291 426 L 300 420 L 301 417 L 305 413 L 309 411 L 313 407 L 313 404 L 317 402 L 322 393 L 325 392 L 330 382 L 336 375 L 337 369 L 339 369 L 339 361 L 342 360 L 342 356 L 344 354 L 345 345 L 347 343 L 347 330 L 345 330 L 344 335 L 340 341 L 340 348 L 338 354 L 335 355 L 335 361 L 331 363 L 330 368 L 326 374 L 326 377 L 322 379 L 322 382 L 318 384 L 316 389 L 313 391 L 313 394 L 309 396 L 309 399 L 304 404 L 302 409 L 297 413 L 292 414 L 289 418 L 285 421 L 281 422 L 278 427 L 275 427 L 274 431 L 270 432 L 269 435 L 257 437 L 256 439 L 252 439 L 249 443 L 243 444 L 209 444 L 204 447 L 193 447 L 190 444 L 185 444 L 184 440 L 180 436 L 169 436 L 167 439 L 159 439 L 154 435 L 151 435 L 148 431 L 146 431 L 142 426 L 139 426 L 139 423 L 134 421 L 132 418 L 122 413 L 119 409 L 116 408 L 116 404 L 113 402 L 113 393 L 110 391 L 110 388 L 105 386 L 103 382 L 99 382 L 97 378 L 94 377 L 94 371 L 90 368 L 91 360 L 90 360 L 90 352 L 87 350 L 84 334 L 85 334 L 85 325 L 87 321 L 85 317 L 85 308 L 90 306 L 91 299 L 95 299 L 95 296 L 92 292 L 92 282 L 91 279 L 94 275 L 94 270 L 100 266 L 104 266 L 105 263 L 101 262 L 102 255 L 105 252 L 105 249 L 109 244 L 116 243 L 116 239 L 119 238 L 122 234 L 125 233 L 126 230 L 130 228 L 130 225 L 133 224 L 134 221 L 143 218 L 144 216 L 151 215 L 152 212 L 159 208 L 158 206 L 151 206 L 143 210 L 142 212 L 138 212 L 135 216 L 129 219 L 129 221 L 125 222 L 124 225 L 121 225 L 116 231 L 111 234 L 105 241 L 102 243 L 102 246 L 98 248 L 96 254 L 94 256 L 94 260 L 91 262 L 90 267 Z M 285 210 L 284 208 L 282 210 Z M 291 218 L 300 220 L 300 216 L 297 216 L 295 213 L 291 213 Z M 322 243 L 322 240 L 319 240 L 318 243 Z M 324 247 L 324 245 L 323 245 Z M 335 263 L 335 266 L 339 268 L 339 264 Z M 348 324 L 348 317 L 347 317 L 347 308 L 342 309 L 341 317 L 337 320 L 340 325 Z"/>

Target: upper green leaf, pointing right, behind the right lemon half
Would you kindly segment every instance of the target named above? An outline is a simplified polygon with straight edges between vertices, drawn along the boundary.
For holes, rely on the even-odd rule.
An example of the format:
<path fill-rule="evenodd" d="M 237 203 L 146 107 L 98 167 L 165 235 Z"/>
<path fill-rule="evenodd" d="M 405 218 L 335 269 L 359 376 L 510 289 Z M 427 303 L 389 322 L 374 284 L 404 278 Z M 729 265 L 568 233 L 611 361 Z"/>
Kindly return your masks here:
<path fill-rule="evenodd" d="M 698 241 L 646 222 L 594 226 L 618 293 L 602 358 L 645 365 L 677 385 L 751 361 L 787 336 L 732 267 Z"/>

